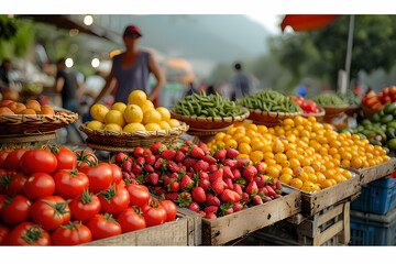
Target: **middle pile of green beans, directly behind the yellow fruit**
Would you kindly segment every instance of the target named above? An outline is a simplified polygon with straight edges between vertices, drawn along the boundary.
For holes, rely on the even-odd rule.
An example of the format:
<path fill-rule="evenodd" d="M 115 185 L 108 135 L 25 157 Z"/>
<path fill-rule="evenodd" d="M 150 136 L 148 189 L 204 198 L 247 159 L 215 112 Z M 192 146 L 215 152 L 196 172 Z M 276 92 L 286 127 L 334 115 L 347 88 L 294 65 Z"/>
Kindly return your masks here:
<path fill-rule="evenodd" d="M 267 89 L 255 95 L 238 99 L 242 107 L 267 112 L 301 112 L 301 108 L 280 92 Z"/>

